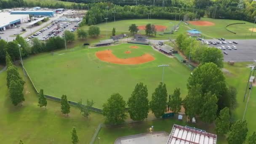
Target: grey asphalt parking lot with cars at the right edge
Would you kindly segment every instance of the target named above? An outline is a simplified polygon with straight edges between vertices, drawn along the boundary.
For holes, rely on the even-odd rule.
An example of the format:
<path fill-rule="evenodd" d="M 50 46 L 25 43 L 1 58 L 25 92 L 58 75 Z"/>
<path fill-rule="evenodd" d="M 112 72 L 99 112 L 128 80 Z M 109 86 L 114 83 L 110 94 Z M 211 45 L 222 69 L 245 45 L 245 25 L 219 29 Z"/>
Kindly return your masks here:
<path fill-rule="evenodd" d="M 217 42 L 220 40 L 204 40 L 204 41 L 211 41 L 211 42 Z M 236 41 L 237 44 L 229 44 L 228 42 Z M 253 61 L 256 59 L 256 40 L 225 40 L 227 44 L 217 44 L 217 45 L 208 45 L 211 47 L 220 47 L 223 45 L 228 54 L 224 54 L 224 61 Z M 232 47 L 232 45 L 235 45 L 237 50 L 231 48 L 231 50 L 227 49 L 227 46 Z"/>

